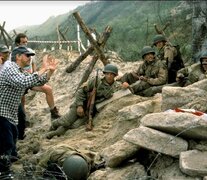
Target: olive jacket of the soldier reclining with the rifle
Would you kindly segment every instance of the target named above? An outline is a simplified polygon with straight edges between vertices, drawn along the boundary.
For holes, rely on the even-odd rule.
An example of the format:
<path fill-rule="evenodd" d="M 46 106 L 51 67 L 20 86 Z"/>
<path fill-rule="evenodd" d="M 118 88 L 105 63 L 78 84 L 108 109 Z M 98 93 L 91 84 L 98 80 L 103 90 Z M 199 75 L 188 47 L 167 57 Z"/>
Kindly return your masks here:
<path fill-rule="evenodd" d="M 92 92 L 95 84 L 95 78 L 91 78 L 78 89 L 74 104 L 76 106 L 84 106 L 84 102 L 88 100 L 89 93 Z M 112 85 L 108 84 L 105 78 L 98 78 L 96 88 L 95 103 L 102 102 L 113 96 L 113 93 L 121 88 L 120 83 L 114 81 Z"/>

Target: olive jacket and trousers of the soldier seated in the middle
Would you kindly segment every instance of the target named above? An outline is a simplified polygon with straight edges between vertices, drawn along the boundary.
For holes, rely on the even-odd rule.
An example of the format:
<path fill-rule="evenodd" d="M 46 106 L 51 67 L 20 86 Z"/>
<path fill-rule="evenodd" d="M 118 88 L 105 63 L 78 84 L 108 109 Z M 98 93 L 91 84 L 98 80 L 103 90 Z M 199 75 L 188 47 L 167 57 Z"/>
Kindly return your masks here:
<path fill-rule="evenodd" d="M 147 81 L 139 80 L 140 76 L 146 77 Z M 143 61 L 135 73 L 124 74 L 121 81 L 129 83 L 130 88 L 135 94 L 151 96 L 147 93 L 143 94 L 144 90 L 153 86 L 166 84 L 167 68 L 165 64 L 158 59 L 152 62 Z"/>

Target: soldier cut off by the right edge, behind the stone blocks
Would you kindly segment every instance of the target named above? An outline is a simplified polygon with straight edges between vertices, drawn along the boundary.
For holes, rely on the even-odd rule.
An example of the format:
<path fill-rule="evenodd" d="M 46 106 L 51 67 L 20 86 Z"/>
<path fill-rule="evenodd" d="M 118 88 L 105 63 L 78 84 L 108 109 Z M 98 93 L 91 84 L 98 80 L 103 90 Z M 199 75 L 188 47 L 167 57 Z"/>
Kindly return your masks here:
<path fill-rule="evenodd" d="M 200 57 L 200 63 L 182 68 L 178 71 L 176 81 L 180 86 L 188 86 L 207 77 L 207 51 Z"/>

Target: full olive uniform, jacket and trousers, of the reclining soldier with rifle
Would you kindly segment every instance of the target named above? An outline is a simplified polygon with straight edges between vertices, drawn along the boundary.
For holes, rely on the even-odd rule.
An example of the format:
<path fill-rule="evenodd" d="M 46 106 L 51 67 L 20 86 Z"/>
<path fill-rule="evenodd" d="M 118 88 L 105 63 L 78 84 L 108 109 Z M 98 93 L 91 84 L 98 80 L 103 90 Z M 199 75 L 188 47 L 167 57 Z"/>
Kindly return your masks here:
<path fill-rule="evenodd" d="M 77 128 L 80 125 L 86 123 L 88 117 L 85 115 L 83 118 L 80 118 L 77 115 L 76 109 L 78 106 L 83 106 L 85 114 L 87 114 L 87 103 L 90 92 L 94 88 L 95 78 L 92 78 L 85 82 L 77 91 L 75 101 L 70 106 L 70 110 L 60 118 L 52 121 L 51 132 L 46 134 L 48 139 L 52 138 L 55 135 L 63 135 L 69 128 Z M 106 99 L 109 99 L 113 96 L 113 93 L 120 89 L 120 84 L 114 82 L 112 85 L 109 85 L 105 78 L 98 78 L 98 84 L 96 89 L 96 98 L 95 104 L 102 102 Z M 95 107 L 95 106 L 94 106 Z M 94 115 L 96 110 L 93 111 Z"/>

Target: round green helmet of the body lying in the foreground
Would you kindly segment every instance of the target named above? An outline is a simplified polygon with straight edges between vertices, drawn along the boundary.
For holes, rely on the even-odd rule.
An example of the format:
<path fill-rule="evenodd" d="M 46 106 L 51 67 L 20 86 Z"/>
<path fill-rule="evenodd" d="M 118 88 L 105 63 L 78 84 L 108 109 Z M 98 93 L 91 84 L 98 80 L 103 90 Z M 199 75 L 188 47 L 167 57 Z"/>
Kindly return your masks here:
<path fill-rule="evenodd" d="M 63 162 L 63 171 L 68 179 L 86 180 L 89 174 L 89 167 L 86 160 L 80 155 L 71 155 Z"/>

